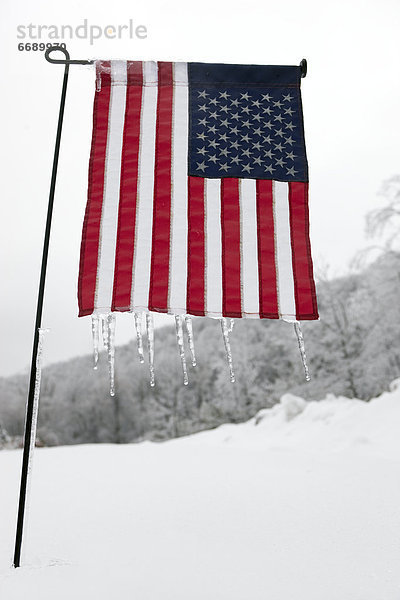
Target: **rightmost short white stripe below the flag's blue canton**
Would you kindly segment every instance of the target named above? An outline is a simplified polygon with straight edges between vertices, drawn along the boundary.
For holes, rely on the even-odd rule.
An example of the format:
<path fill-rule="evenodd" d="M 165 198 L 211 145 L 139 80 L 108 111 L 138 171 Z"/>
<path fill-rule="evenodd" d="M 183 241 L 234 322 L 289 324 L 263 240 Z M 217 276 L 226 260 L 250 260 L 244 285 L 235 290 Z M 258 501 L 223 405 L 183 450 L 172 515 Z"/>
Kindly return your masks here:
<path fill-rule="evenodd" d="M 275 256 L 279 315 L 284 321 L 296 320 L 292 244 L 290 240 L 289 185 L 273 182 Z"/>

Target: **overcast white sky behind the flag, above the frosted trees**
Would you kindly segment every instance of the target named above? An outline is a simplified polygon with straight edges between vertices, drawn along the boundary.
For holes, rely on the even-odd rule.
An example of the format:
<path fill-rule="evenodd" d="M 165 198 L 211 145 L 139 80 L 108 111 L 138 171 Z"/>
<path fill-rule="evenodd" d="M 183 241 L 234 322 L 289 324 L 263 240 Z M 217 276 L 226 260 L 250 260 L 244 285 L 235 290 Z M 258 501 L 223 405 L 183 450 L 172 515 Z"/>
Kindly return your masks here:
<path fill-rule="evenodd" d="M 0 375 L 30 363 L 63 73 L 41 52 L 18 51 L 18 25 L 132 19 L 148 29 L 146 40 L 65 40 L 72 58 L 298 64 L 306 57 L 314 264 L 342 273 L 365 245 L 364 217 L 382 203 L 382 181 L 400 173 L 399 16 L 398 0 L 3 0 Z M 77 318 L 76 282 L 93 91 L 93 71 L 71 67 L 43 316 L 51 330 L 46 363 L 91 351 L 90 320 Z M 118 318 L 117 343 L 132 334 L 133 320 Z"/>

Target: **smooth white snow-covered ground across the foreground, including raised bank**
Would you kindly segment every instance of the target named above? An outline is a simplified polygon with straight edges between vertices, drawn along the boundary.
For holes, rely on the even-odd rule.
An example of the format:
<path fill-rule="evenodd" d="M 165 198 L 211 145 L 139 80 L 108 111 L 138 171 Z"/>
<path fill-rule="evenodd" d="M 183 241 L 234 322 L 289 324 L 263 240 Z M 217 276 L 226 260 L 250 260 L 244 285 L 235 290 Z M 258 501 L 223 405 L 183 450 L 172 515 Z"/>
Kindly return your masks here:
<path fill-rule="evenodd" d="M 400 388 L 162 444 L 0 453 L 1 600 L 399 600 Z"/>

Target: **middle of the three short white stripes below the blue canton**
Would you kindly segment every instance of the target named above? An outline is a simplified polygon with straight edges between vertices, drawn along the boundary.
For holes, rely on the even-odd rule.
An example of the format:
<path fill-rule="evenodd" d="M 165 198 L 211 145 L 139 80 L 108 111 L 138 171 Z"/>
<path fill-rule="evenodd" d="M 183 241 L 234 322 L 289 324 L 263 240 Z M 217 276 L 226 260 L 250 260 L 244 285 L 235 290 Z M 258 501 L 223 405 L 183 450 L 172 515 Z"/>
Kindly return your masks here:
<path fill-rule="evenodd" d="M 239 180 L 243 317 L 259 318 L 256 180 Z"/>

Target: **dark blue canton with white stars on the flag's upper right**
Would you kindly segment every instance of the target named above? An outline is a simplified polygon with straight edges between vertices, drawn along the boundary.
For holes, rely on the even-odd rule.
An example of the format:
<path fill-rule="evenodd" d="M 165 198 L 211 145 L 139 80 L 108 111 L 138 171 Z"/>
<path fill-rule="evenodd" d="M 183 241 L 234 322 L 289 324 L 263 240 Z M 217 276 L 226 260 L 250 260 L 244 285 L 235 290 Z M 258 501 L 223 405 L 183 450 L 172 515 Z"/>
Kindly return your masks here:
<path fill-rule="evenodd" d="M 297 67 L 192 63 L 189 175 L 307 181 L 299 81 Z"/>

